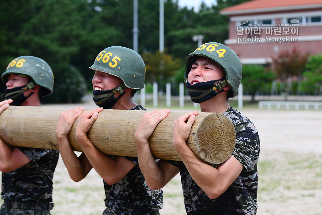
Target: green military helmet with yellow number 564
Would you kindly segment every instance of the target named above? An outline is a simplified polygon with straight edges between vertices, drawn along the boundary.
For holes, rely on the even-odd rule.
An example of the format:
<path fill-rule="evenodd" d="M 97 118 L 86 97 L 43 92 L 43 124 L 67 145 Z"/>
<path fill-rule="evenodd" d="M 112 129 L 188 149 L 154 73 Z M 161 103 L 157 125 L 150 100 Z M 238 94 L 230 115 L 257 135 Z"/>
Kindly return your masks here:
<path fill-rule="evenodd" d="M 237 54 L 226 45 L 213 42 L 205 43 L 187 56 L 185 60 L 185 80 L 187 80 L 192 64 L 198 56 L 209 58 L 223 68 L 227 83 L 231 87 L 228 97 L 235 97 L 242 80 L 242 63 Z"/>

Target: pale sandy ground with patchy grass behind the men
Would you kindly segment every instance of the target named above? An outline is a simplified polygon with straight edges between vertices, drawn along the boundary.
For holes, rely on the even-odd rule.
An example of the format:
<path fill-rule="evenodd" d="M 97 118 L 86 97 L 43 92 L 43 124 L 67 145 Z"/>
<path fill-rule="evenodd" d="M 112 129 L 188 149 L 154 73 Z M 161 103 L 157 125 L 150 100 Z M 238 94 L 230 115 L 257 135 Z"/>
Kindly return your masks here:
<path fill-rule="evenodd" d="M 86 109 L 95 108 L 91 103 L 82 105 Z M 241 112 L 251 119 L 260 135 L 257 214 L 322 215 L 322 112 L 257 109 Z M 76 183 L 69 178 L 60 159 L 53 188 L 52 215 L 99 215 L 105 208 L 103 181 L 94 170 Z M 160 214 L 186 214 L 180 176 L 163 191 L 164 207 Z"/>

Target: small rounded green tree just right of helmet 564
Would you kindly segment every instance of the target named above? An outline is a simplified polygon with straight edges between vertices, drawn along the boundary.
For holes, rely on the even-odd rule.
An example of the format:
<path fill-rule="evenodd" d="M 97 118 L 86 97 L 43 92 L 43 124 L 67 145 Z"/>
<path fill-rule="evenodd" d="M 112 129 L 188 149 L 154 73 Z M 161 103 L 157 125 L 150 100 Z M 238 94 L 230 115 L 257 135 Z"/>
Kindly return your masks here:
<path fill-rule="evenodd" d="M 258 92 L 265 91 L 265 86 L 275 79 L 276 75 L 270 69 L 260 65 L 242 66 L 243 91 L 251 95 L 251 101 L 255 101 Z"/>

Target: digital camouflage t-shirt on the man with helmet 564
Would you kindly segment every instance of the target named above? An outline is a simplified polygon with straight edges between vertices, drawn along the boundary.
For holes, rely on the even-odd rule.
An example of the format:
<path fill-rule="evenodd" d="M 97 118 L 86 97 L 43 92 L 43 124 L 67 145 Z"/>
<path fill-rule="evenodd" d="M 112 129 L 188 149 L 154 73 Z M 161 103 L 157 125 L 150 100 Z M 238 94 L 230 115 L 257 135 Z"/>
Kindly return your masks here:
<path fill-rule="evenodd" d="M 257 212 L 257 162 L 260 152 L 258 132 L 248 118 L 232 107 L 223 114 L 235 127 L 236 145 L 232 155 L 244 168 L 230 187 L 212 200 L 195 183 L 182 161 L 168 161 L 180 168 L 187 214 L 254 215 Z M 216 167 L 215 164 L 212 166 Z"/>

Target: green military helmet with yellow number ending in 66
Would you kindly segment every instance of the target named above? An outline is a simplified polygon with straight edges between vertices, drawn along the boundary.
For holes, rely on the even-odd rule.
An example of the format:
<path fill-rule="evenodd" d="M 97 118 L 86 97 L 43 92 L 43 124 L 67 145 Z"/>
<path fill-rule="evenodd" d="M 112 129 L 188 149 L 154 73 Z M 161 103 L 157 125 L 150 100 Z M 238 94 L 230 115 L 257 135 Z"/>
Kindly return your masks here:
<path fill-rule="evenodd" d="M 44 88 L 43 96 L 53 92 L 54 74 L 43 59 L 34 56 L 17 57 L 9 63 L 7 70 L 1 75 L 1 79 L 7 83 L 11 73 L 30 76 L 35 84 Z"/>

